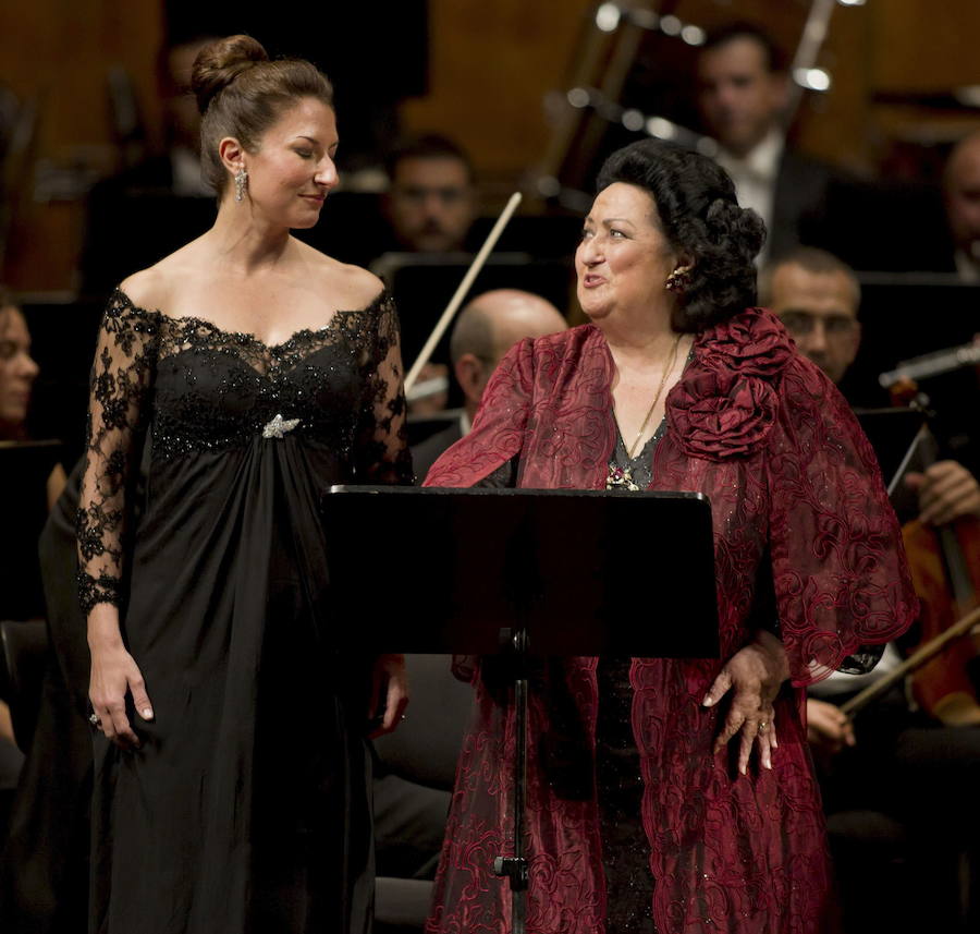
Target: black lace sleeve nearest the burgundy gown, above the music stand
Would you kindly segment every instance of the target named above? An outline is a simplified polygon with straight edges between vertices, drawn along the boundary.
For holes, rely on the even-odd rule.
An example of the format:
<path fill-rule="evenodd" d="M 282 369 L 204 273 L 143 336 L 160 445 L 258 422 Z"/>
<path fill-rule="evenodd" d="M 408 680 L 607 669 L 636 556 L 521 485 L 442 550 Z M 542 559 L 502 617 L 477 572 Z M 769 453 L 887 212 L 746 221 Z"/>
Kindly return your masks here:
<path fill-rule="evenodd" d="M 355 452 L 360 483 L 411 485 L 412 454 L 405 428 L 405 387 L 399 315 L 382 295 L 366 362 L 360 432 Z"/>

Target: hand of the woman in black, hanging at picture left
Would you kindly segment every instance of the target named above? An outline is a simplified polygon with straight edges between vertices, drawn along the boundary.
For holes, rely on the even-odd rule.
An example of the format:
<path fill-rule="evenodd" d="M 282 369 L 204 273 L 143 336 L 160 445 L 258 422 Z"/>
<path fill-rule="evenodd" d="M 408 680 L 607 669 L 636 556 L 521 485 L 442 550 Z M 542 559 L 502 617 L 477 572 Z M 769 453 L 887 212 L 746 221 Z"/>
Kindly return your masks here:
<path fill-rule="evenodd" d="M 154 708 L 143 675 L 122 641 L 114 607 L 99 604 L 93 608 L 88 648 L 91 654 L 88 699 L 99 718 L 96 726 L 117 745 L 139 749 L 139 738 L 126 716 L 126 692 L 144 720 L 154 718 Z"/>

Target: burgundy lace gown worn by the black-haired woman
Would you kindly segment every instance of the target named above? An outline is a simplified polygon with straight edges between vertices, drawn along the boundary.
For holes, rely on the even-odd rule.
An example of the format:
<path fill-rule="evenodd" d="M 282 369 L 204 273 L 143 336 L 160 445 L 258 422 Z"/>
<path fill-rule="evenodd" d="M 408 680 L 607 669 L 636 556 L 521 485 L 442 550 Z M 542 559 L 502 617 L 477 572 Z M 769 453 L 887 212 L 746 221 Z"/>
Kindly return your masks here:
<path fill-rule="evenodd" d="M 427 484 L 471 486 L 509 465 L 522 487 L 603 488 L 616 438 L 612 376 L 609 348 L 591 325 L 515 345 L 473 432 L 436 462 Z M 701 700 L 723 659 L 763 624 L 767 582 L 797 689 L 910 624 L 917 601 L 874 453 L 847 403 L 779 322 L 748 310 L 697 337 L 667 396 L 649 488 L 700 490 L 711 500 L 722 660 L 634 658 L 603 670 L 580 657 L 547 666 L 530 695 L 527 930 L 622 934 L 652 922 L 658 934 L 813 934 L 826 920 L 829 869 L 801 692 L 784 689 L 775 702 L 772 771 L 754 755 L 744 776 L 733 750 L 712 753 L 726 704 L 706 708 Z M 623 585 L 642 581 L 642 556 L 624 556 Z M 659 617 L 657 594 L 649 607 L 647 624 L 684 624 Z M 510 930 L 510 893 L 492 862 L 507 852 L 512 829 L 513 706 L 479 672 L 475 689 L 432 934 Z M 630 725 L 625 736 L 608 719 L 617 708 Z M 576 737 L 579 754 L 569 752 Z M 635 750 L 641 781 L 600 802 L 595 789 L 601 796 L 609 786 L 616 745 Z M 634 793 L 636 846 L 630 832 L 612 839 L 609 820 Z M 617 868 L 624 846 L 641 853 L 646 884 L 635 860 Z M 633 901 L 652 893 L 650 911 L 609 906 L 609 893 L 624 886 Z"/>

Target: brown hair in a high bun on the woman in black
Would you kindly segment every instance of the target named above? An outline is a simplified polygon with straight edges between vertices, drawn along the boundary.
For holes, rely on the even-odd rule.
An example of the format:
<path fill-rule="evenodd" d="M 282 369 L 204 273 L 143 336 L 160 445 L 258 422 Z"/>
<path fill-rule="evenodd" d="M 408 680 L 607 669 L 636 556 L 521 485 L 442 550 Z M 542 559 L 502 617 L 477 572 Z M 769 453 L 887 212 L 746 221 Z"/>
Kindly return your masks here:
<path fill-rule="evenodd" d="M 333 87 L 316 65 L 302 59 L 270 61 L 250 36 L 205 46 L 194 60 L 191 88 L 201 112 L 201 170 L 219 197 L 229 180 L 218 155 L 225 136 L 256 153 L 262 134 L 301 98 L 333 107 Z"/>

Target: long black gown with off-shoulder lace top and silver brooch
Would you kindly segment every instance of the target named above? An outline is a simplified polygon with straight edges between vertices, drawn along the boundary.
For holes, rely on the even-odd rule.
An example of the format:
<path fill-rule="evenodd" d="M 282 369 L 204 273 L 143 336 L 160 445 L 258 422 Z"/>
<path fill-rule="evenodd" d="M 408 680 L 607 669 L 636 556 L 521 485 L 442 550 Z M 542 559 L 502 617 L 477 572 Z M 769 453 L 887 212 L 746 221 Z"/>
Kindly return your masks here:
<path fill-rule="evenodd" d="M 96 736 L 99 934 L 367 931 L 369 659 L 335 648 L 318 502 L 411 482 L 401 376 L 384 294 L 277 347 L 111 300 L 79 583 L 122 607 L 155 717 L 136 752 Z"/>

